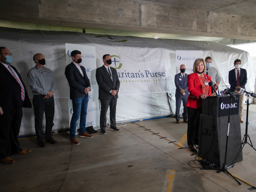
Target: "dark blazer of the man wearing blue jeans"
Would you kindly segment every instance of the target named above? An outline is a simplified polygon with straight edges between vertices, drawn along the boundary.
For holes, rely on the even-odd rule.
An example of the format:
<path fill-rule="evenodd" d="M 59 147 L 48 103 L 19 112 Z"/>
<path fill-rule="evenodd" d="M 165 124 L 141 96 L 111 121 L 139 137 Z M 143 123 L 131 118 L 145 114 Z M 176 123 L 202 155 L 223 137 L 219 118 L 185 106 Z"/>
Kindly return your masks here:
<path fill-rule="evenodd" d="M 68 64 L 65 69 L 65 76 L 70 87 L 70 99 L 88 97 L 88 93 L 85 94 L 84 89 L 91 87 L 90 80 L 86 75 L 85 68 L 81 66 L 81 69 L 84 73 L 84 77 L 73 62 Z"/>

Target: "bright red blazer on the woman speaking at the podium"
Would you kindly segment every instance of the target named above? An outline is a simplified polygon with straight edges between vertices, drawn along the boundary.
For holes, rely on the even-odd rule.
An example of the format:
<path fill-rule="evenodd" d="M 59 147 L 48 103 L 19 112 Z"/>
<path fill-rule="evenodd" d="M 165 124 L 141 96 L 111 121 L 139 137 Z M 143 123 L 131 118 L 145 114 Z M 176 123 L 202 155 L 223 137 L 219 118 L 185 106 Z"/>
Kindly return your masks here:
<path fill-rule="evenodd" d="M 204 77 L 207 78 L 207 75 L 204 74 Z M 210 76 L 208 77 L 210 80 L 212 80 Z M 207 81 L 209 81 L 209 79 L 207 78 Z M 189 95 L 188 95 L 187 107 L 196 108 L 196 109 L 201 108 L 202 99 L 199 97 L 199 95 L 203 94 L 203 88 L 197 73 L 191 73 L 188 75 L 188 91 L 189 91 Z M 212 94 L 212 88 L 209 86 L 208 96 L 210 96 L 211 94 Z"/>

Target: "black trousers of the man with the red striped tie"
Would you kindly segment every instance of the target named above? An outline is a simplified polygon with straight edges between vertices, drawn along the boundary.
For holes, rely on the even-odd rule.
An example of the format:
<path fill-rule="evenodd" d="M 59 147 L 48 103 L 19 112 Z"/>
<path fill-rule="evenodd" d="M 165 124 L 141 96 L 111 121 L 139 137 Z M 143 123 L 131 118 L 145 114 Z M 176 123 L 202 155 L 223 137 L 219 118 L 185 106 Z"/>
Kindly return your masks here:
<path fill-rule="evenodd" d="M 22 108 L 3 111 L 3 115 L 0 115 L 0 159 L 22 151 L 18 141 Z"/>

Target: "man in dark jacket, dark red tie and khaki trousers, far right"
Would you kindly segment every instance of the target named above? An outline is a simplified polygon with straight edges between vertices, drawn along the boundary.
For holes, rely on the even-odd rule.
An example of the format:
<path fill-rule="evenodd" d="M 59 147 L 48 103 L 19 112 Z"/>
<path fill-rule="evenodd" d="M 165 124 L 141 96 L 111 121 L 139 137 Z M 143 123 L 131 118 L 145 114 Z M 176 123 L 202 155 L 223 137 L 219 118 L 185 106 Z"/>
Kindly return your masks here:
<path fill-rule="evenodd" d="M 245 84 L 247 83 L 247 72 L 246 69 L 242 69 L 240 68 L 241 66 L 241 60 L 240 59 L 236 59 L 234 61 L 234 66 L 235 68 L 232 69 L 231 71 L 229 71 L 228 73 L 228 82 L 230 84 L 230 91 L 231 92 L 236 92 L 238 93 L 239 91 L 237 91 L 237 88 L 243 88 L 245 89 Z M 243 103 L 244 103 L 244 94 L 243 93 L 240 96 L 240 101 L 239 101 L 239 115 L 240 115 L 240 122 L 243 123 Z"/>

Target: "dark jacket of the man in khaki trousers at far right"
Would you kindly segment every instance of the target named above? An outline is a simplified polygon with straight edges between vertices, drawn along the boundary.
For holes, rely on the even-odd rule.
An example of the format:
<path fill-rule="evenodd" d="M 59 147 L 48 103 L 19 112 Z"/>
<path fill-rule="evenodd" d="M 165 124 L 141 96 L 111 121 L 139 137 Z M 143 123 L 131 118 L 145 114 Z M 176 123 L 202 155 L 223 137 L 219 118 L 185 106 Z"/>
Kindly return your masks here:
<path fill-rule="evenodd" d="M 239 69 L 240 71 L 240 86 L 245 89 L 245 84 L 247 83 L 247 72 L 246 69 Z M 230 92 L 236 90 L 236 72 L 235 69 L 232 69 L 228 72 L 228 82 L 230 84 Z"/>

